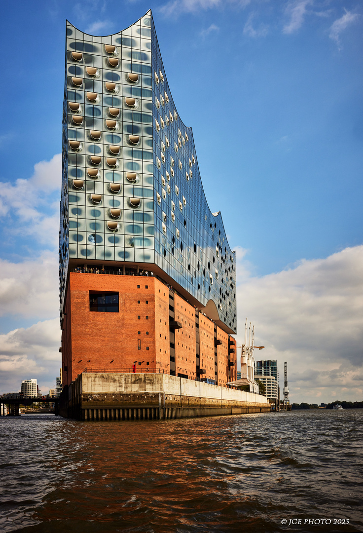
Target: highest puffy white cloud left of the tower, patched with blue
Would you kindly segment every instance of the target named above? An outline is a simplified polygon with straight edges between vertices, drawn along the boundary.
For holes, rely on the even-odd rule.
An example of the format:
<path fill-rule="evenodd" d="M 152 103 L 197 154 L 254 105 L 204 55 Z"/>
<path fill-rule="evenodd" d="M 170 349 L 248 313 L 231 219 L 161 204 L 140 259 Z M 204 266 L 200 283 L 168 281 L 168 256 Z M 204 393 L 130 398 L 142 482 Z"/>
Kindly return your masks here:
<path fill-rule="evenodd" d="M 28 180 L 2 182 L 0 216 L 7 219 L 8 233 L 58 245 L 61 167 L 61 154 L 57 154 L 50 161 L 36 163 Z"/>

